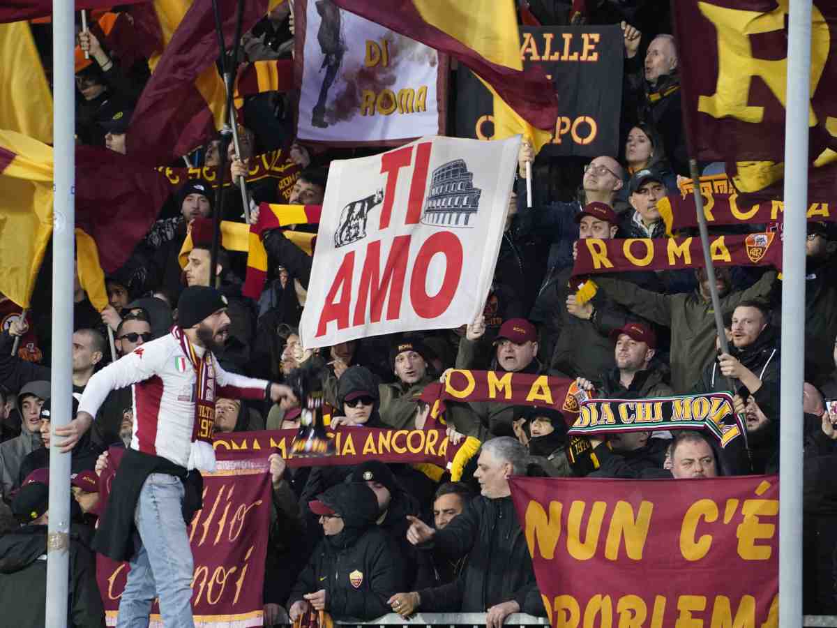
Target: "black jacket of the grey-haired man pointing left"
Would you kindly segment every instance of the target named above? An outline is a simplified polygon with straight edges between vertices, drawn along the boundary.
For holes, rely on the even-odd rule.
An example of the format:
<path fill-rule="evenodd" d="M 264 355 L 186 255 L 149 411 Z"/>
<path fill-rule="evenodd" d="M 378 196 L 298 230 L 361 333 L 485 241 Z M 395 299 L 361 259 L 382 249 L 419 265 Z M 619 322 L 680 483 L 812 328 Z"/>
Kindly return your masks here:
<path fill-rule="evenodd" d="M 468 556 L 454 582 L 419 592 L 421 610 L 485 613 L 515 600 L 523 613 L 546 615 L 511 497 L 475 497 L 459 517 L 436 531 L 433 543 L 420 547 L 438 548 L 451 559 Z"/>

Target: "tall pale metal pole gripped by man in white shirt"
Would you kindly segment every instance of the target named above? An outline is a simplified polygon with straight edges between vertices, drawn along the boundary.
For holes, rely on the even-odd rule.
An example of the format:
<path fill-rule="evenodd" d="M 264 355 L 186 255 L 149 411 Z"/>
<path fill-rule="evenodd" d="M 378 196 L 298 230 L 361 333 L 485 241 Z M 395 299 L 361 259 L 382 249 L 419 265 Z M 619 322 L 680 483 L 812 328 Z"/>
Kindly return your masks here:
<path fill-rule="evenodd" d="M 73 274 L 75 268 L 75 47 L 74 3 L 53 0 L 53 317 L 52 430 L 69 424 L 73 377 Z M 49 448 L 49 528 L 45 625 L 66 628 L 69 595 L 70 454 L 53 438 Z"/>

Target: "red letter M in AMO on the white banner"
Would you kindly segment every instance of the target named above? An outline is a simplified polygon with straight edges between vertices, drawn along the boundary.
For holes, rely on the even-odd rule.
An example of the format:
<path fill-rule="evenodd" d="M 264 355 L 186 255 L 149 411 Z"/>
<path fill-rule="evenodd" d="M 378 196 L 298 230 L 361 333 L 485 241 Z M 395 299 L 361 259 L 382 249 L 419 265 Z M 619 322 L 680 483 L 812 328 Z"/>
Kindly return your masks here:
<path fill-rule="evenodd" d="M 381 240 L 367 246 L 366 259 L 363 260 L 360 291 L 357 294 L 355 319 L 352 325 L 362 325 L 367 311 L 367 296 L 370 301 L 369 322 L 381 320 L 383 301 L 389 289 L 387 320 L 392 321 L 401 314 L 401 297 L 404 292 L 404 276 L 407 275 L 407 260 L 410 250 L 410 236 L 398 235 L 393 239 L 393 247 L 387 256 L 387 266 L 381 277 Z"/>

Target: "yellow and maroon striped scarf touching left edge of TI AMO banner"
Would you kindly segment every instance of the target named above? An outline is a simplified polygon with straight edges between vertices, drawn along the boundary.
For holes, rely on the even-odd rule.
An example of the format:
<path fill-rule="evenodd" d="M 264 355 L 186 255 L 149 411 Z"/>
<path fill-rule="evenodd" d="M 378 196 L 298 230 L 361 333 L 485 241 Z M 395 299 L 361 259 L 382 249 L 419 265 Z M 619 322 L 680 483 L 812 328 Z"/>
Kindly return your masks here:
<path fill-rule="evenodd" d="M 267 278 L 267 251 L 262 244 L 262 234 L 268 229 L 281 229 L 291 224 L 318 224 L 321 213 L 322 205 L 259 205 L 259 221 L 250 225 L 249 229 L 247 277 L 241 291 L 244 296 L 258 299 L 264 290 L 264 280 Z M 314 255 L 316 234 L 285 231 L 285 237 L 308 255 Z"/>

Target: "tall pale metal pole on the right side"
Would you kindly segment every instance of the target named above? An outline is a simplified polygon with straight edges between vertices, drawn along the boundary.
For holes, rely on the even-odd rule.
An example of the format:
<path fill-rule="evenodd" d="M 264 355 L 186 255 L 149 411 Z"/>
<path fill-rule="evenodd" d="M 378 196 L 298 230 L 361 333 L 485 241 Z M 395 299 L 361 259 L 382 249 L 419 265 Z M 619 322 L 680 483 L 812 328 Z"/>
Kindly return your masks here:
<path fill-rule="evenodd" d="M 802 384 L 805 346 L 805 239 L 811 0 L 793 0 L 788 21 L 785 111 L 782 383 L 780 392 L 779 625 L 802 625 Z"/>

